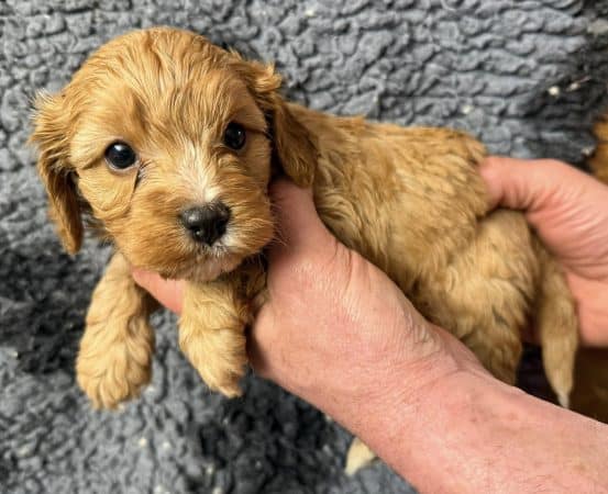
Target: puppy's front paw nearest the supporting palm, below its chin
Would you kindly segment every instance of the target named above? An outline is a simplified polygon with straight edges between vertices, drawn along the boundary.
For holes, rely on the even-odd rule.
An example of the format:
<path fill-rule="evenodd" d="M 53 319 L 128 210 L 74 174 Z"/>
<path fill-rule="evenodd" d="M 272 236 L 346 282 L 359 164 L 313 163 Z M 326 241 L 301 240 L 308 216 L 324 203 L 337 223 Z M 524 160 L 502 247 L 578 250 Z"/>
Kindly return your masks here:
<path fill-rule="evenodd" d="M 239 381 L 247 364 L 244 328 L 189 332 L 183 322 L 179 346 L 211 391 L 228 397 L 242 394 Z"/>

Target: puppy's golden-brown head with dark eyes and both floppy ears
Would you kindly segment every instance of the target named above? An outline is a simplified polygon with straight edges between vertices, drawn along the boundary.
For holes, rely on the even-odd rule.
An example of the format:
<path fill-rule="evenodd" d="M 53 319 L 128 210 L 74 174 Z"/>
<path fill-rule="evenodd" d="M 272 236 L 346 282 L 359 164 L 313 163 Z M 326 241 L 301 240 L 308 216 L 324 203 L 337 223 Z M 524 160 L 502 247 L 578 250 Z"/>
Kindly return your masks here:
<path fill-rule="evenodd" d="M 153 29 L 93 54 L 38 101 L 38 170 L 66 248 L 82 205 L 123 255 L 169 278 L 233 270 L 273 236 L 267 184 L 313 177 L 306 130 L 272 68 L 192 33 Z"/>

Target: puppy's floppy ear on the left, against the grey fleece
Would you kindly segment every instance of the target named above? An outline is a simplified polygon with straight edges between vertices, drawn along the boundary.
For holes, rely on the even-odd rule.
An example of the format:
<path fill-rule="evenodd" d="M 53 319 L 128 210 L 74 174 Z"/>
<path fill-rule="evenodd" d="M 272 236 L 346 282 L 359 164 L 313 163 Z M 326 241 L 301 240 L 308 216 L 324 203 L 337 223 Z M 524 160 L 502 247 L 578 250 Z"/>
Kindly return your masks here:
<path fill-rule="evenodd" d="M 35 108 L 30 142 L 38 148 L 37 170 L 48 194 L 48 214 L 65 249 L 76 254 L 82 244 L 82 221 L 68 161 L 69 112 L 60 96 L 40 94 Z"/>

